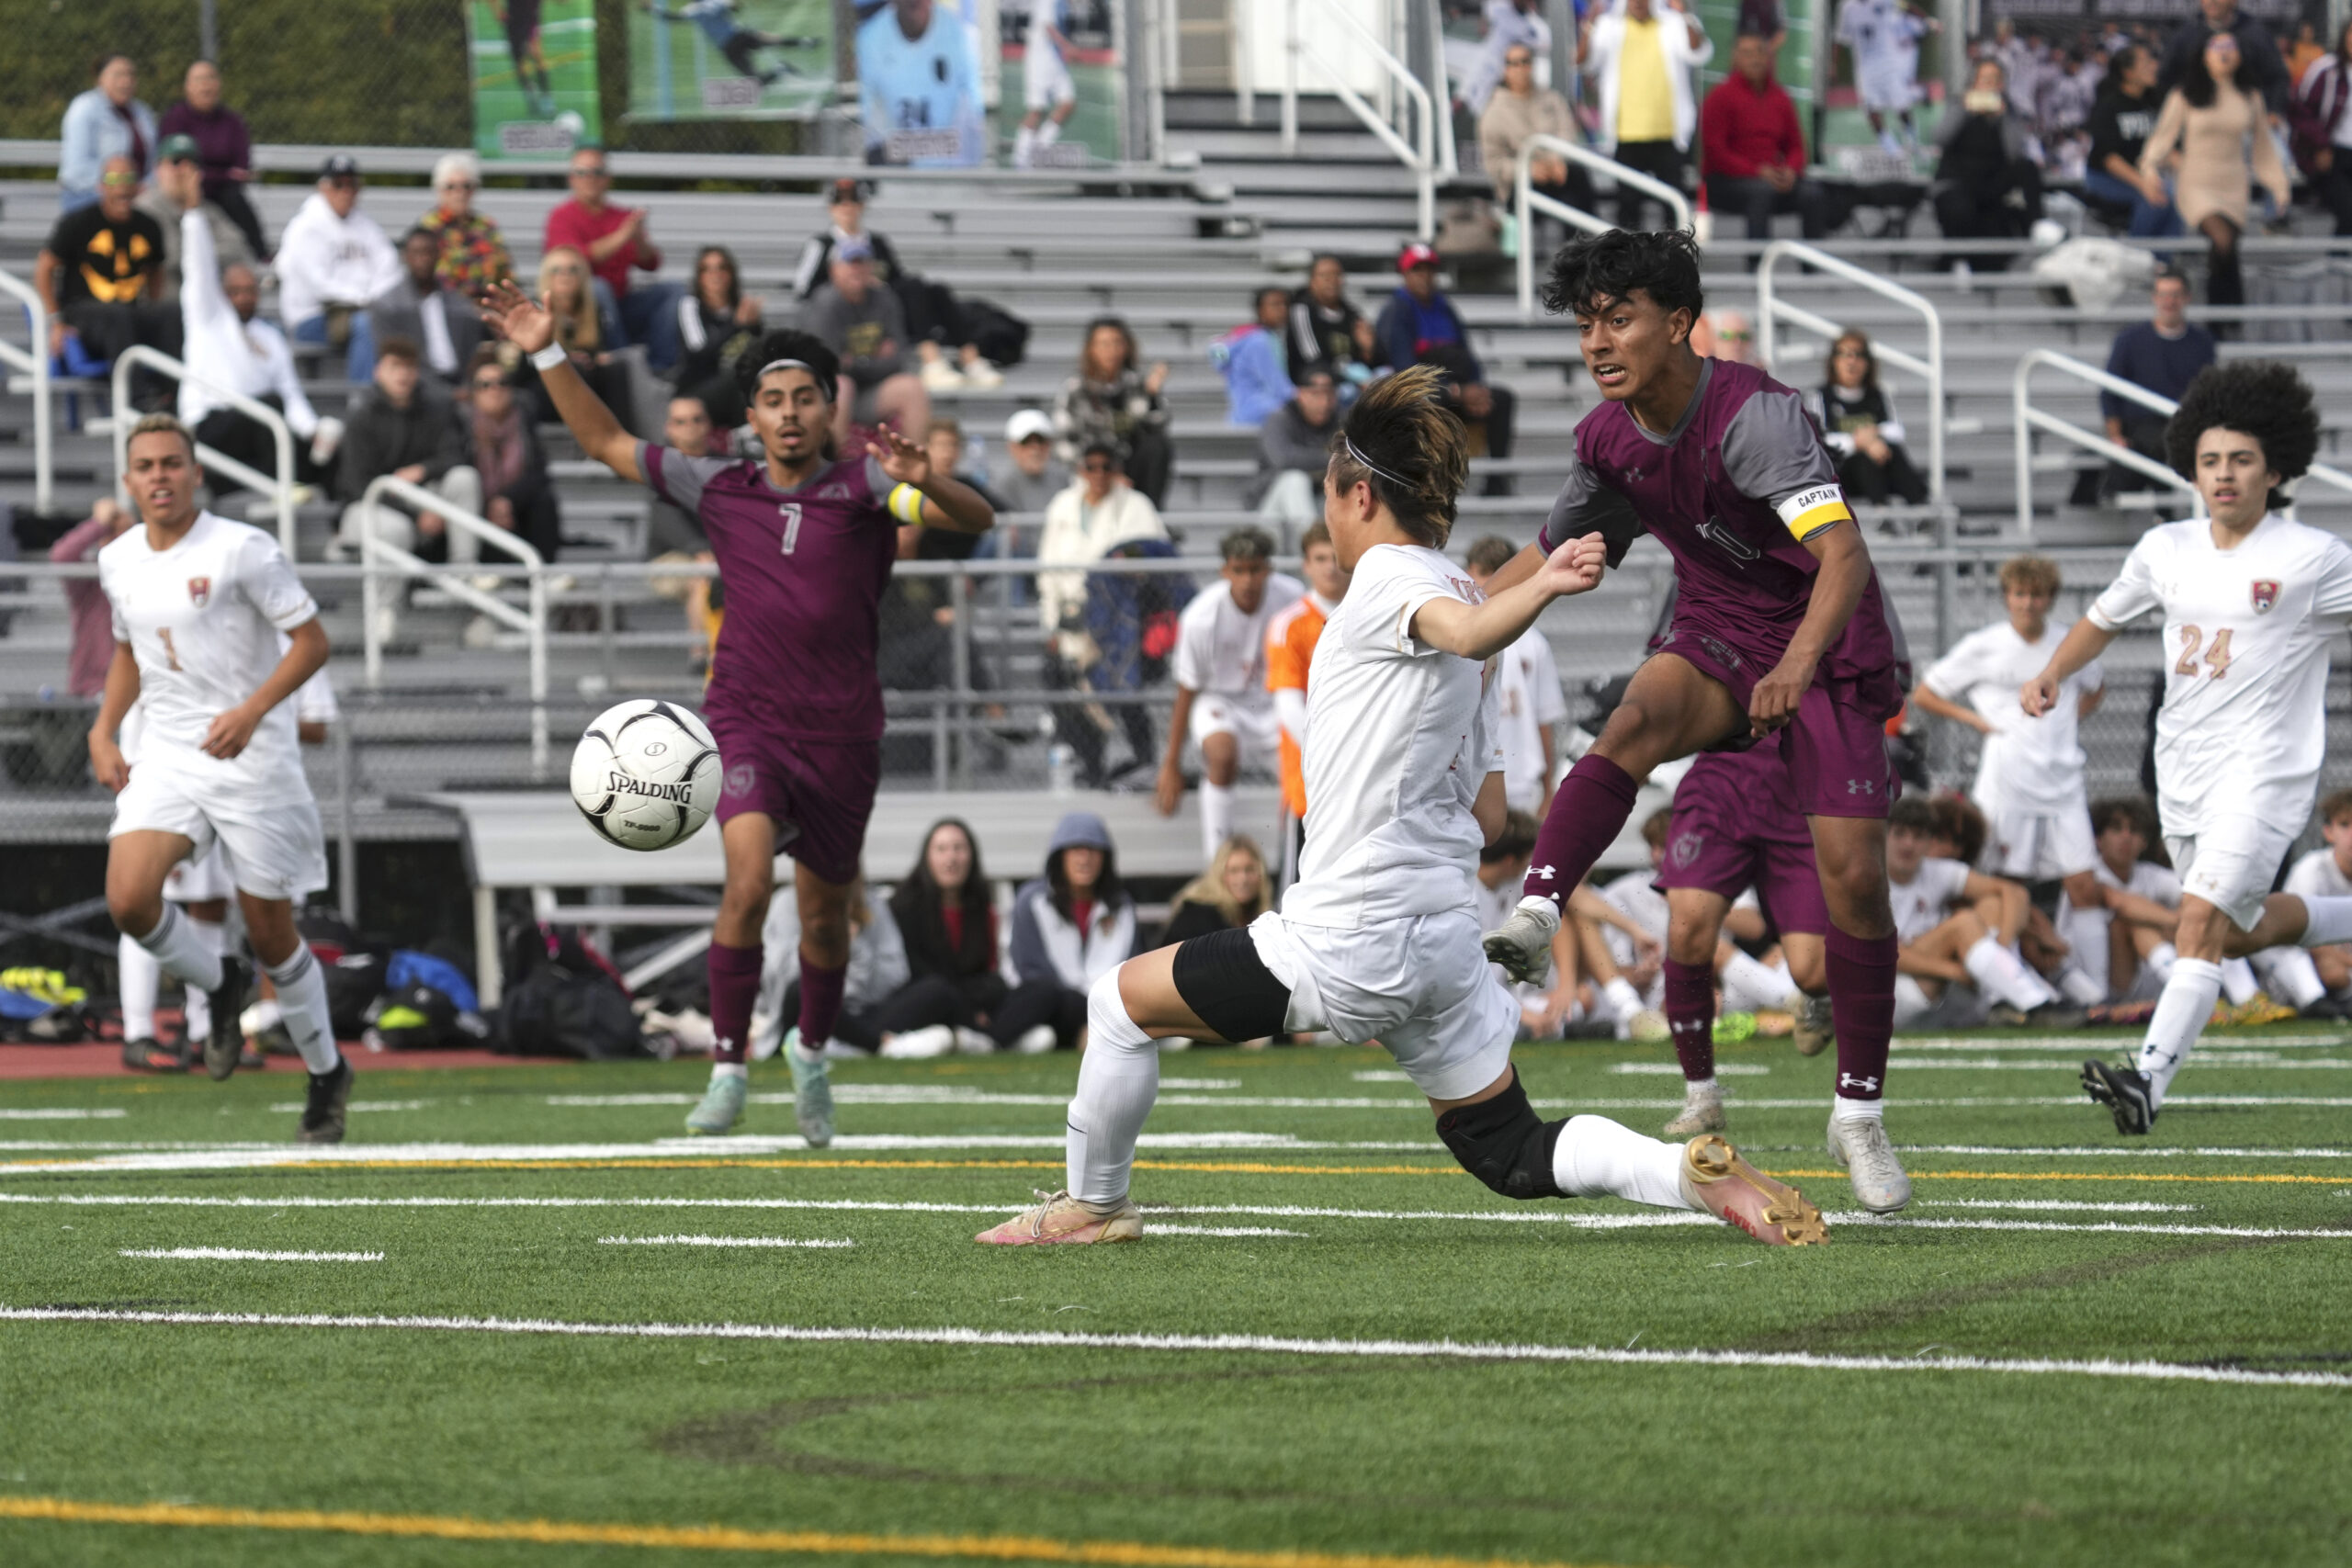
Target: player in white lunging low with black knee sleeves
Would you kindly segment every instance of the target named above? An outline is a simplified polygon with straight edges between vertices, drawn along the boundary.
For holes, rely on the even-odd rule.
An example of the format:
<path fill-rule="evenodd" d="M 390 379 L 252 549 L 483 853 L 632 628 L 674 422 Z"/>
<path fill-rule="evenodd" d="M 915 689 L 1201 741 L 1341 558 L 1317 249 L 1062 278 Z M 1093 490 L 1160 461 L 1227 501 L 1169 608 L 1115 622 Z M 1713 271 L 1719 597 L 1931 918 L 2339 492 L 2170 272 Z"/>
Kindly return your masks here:
<path fill-rule="evenodd" d="M 1538 1121 L 1510 1063 L 1519 1004 L 1479 952 L 1477 851 L 1503 830 L 1498 703 L 1482 661 L 1602 576 L 1569 538 L 1484 599 L 1439 548 L 1470 477 L 1432 369 L 1374 383 L 1324 473 L 1324 522 L 1355 576 L 1315 646 L 1305 783 L 1315 811 L 1279 912 L 1129 959 L 1087 999 L 1068 1190 L 981 1234 L 1002 1246 L 1134 1241 L 1136 1138 L 1160 1039 L 1331 1030 L 1378 1039 L 1437 1135 L 1512 1199 L 1623 1197 L 1715 1213 L 1759 1241 L 1825 1241 L 1820 1213 L 1722 1138 L 1658 1143 L 1606 1117 Z"/>

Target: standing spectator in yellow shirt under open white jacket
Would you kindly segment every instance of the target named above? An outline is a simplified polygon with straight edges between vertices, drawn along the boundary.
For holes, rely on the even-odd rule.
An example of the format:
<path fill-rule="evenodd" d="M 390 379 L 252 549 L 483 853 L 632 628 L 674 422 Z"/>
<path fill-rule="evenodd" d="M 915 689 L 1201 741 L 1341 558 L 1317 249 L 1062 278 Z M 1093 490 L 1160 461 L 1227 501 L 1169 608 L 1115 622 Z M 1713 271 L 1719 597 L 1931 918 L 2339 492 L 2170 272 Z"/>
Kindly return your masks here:
<path fill-rule="evenodd" d="M 1691 71 L 1715 59 L 1708 31 L 1686 0 L 1625 0 L 1623 9 L 1588 14 L 1576 38 L 1576 63 L 1599 82 L 1599 143 L 1609 158 L 1675 190 L 1689 190 L 1686 155 L 1698 129 Z M 1618 190 L 1618 228 L 1639 228 L 1656 197 Z"/>

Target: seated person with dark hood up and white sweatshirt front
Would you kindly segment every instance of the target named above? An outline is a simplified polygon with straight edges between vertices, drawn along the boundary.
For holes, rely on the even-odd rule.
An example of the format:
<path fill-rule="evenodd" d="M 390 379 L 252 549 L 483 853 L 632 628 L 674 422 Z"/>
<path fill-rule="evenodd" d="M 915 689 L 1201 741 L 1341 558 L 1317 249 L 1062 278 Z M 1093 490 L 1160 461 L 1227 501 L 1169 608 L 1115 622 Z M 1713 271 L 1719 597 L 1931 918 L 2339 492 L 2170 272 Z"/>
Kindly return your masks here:
<path fill-rule="evenodd" d="M 1091 811 L 1054 823 L 1044 877 L 1014 893 L 1014 990 L 990 1034 L 1014 1051 L 1070 1051 L 1087 1030 L 1087 992 L 1136 957 L 1136 900 L 1120 882 L 1110 830 Z"/>

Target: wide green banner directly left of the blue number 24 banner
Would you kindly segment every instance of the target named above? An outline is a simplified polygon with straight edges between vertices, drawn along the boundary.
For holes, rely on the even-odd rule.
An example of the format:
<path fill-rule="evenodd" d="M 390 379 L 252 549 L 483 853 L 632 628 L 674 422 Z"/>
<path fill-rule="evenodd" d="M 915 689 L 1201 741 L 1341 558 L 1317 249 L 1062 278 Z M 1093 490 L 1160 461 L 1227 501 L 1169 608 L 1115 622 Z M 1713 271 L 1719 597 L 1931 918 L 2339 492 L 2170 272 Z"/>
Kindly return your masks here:
<path fill-rule="evenodd" d="M 833 0 L 630 5 L 630 120 L 807 120 L 833 96 Z"/>

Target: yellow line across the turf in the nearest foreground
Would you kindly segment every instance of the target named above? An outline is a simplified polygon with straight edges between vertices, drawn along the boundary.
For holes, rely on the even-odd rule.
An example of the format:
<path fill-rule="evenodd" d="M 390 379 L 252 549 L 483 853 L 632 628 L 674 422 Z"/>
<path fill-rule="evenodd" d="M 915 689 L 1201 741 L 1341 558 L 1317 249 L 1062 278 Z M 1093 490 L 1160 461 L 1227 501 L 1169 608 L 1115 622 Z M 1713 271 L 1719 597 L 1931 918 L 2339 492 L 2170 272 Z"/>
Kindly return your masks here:
<path fill-rule="evenodd" d="M 75 1497 L 0 1497 L 0 1519 L 214 1530 L 310 1530 L 327 1535 L 409 1535 L 433 1540 L 524 1540 L 548 1547 L 673 1547 L 682 1552 L 938 1556 L 1007 1563 L 1089 1563 L 1096 1568 L 1571 1568 L 1569 1563 L 1519 1563 L 1512 1559 L 1157 1547 L 1138 1540 L 1042 1540 L 1035 1535 L 835 1535 L 826 1530 L 734 1530 L 727 1526 L 574 1523 L 562 1519 L 463 1519 L 442 1514 L 325 1514 L 313 1509 L 226 1509 L 186 1502 L 80 1502 Z"/>

